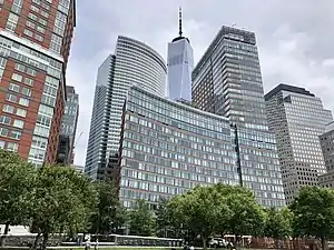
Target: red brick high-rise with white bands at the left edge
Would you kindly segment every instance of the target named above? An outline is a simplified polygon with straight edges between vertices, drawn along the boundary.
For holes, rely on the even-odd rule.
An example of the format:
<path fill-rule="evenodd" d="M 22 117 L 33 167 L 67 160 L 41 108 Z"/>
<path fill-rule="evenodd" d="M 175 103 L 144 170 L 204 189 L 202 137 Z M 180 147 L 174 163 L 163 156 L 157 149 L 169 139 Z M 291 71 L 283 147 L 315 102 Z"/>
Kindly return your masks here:
<path fill-rule="evenodd" d="M 0 147 L 56 161 L 76 1 L 0 1 Z"/>

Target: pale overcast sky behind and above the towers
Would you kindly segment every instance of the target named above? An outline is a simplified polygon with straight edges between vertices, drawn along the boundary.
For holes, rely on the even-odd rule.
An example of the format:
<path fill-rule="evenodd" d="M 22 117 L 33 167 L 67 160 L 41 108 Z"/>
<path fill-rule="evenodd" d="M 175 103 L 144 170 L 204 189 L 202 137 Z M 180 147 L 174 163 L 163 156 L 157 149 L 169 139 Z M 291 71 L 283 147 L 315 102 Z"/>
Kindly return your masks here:
<path fill-rule="evenodd" d="M 301 86 L 334 108 L 334 0 L 77 0 L 77 28 L 67 84 L 80 96 L 76 164 L 85 164 L 96 74 L 117 36 L 146 42 L 164 58 L 184 34 L 197 62 L 222 26 L 254 31 L 265 92 L 279 82 Z"/>

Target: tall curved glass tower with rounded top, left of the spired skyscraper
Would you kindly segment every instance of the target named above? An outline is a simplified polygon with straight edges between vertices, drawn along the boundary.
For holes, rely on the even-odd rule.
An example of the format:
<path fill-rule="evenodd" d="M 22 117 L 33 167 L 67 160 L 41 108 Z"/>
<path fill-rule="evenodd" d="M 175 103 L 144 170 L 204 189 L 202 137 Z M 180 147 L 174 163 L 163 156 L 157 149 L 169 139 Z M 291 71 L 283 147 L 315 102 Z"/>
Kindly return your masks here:
<path fill-rule="evenodd" d="M 85 172 L 104 179 L 106 168 L 119 150 L 122 106 L 131 86 L 165 96 L 167 67 L 147 44 L 118 37 L 115 54 L 100 66 L 97 76 Z"/>

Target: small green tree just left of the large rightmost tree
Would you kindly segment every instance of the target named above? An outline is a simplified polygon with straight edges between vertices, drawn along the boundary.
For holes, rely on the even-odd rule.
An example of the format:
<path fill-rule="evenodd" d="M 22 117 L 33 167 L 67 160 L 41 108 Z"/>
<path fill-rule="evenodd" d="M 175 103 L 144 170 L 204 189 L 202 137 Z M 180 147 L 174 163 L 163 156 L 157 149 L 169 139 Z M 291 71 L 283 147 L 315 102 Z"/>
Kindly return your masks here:
<path fill-rule="evenodd" d="M 277 248 L 278 240 L 292 236 L 292 213 L 287 208 L 266 210 L 264 236 L 275 239 Z"/>

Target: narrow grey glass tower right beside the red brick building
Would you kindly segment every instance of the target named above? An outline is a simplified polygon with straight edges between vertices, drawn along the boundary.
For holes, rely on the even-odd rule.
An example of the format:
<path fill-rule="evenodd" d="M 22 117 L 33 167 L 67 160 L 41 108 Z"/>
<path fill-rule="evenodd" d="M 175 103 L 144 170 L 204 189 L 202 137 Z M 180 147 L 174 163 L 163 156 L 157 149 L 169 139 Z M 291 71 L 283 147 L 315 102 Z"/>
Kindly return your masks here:
<path fill-rule="evenodd" d="M 75 160 L 75 140 L 79 118 L 79 94 L 75 87 L 66 87 L 67 101 L 61 120 L 61 131 L 59 136 L 57 163 L 72 164 Z"/>

